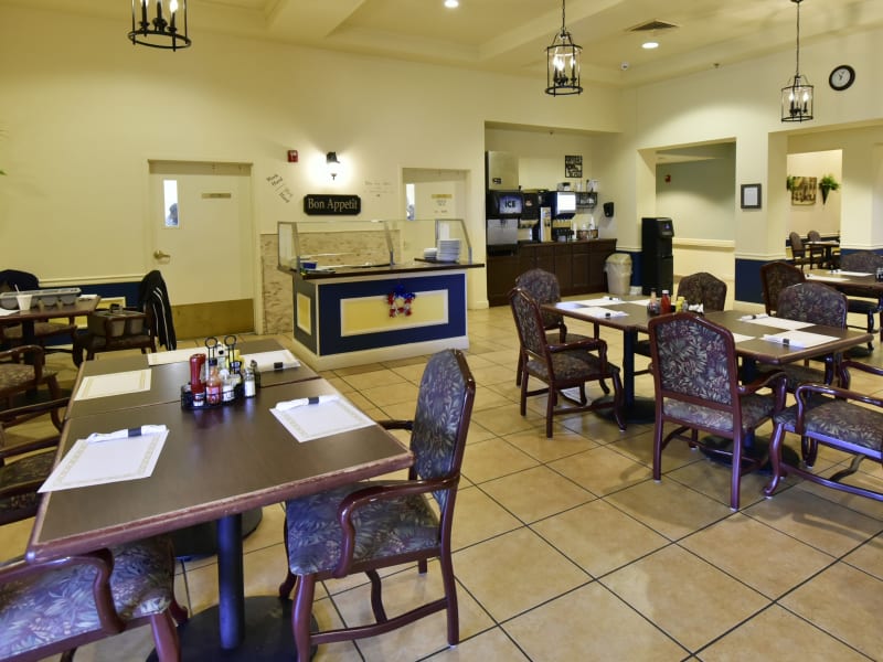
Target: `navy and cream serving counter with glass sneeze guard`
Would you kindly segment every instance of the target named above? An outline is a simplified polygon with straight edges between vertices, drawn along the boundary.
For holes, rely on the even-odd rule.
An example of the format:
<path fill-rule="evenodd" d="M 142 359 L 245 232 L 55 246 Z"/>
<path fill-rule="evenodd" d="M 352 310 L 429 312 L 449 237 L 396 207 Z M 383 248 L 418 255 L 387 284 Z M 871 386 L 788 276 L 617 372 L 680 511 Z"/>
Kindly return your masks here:
<path fill-rule="evenodd" d="M 315 370 L 468 349 L 467 271 L 483 264 L 472 263 L 460 220 L 278 227 L 295 352 Z M 456 260 L 432 257 L 432 248 L 449 257 L 453 247 Z"/>

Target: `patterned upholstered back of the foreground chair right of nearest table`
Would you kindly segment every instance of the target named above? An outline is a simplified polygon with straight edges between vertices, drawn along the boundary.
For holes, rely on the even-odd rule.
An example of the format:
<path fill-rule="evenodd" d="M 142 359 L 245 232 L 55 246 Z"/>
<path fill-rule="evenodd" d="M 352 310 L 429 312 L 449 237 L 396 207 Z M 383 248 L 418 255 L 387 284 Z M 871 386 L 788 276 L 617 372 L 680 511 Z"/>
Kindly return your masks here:
<path fill-rule="evenodd" d="M 462 352 L 445 350 L 429 359 L 411 435 L 412 480 L 459 476 L 475 395 L 476 382 Z M 449 494 L 433 494 L 443 511 Z"/>

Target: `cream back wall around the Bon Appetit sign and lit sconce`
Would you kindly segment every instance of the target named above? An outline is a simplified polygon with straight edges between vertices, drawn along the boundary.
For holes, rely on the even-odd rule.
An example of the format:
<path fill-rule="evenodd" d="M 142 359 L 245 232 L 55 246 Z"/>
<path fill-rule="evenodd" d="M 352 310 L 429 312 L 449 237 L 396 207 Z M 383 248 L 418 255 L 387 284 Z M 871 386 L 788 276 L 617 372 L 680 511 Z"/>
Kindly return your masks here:
<path fill-rule="evenodd" d="M 14 266 L 46 282 L 152 268 L 148 159 L 252 163 L 256 234 L 301 218 L 307 193 L 357 193 L 362 217 L 401 217 L 403 168 L 462 170 L 469 232 L 483 247 L 486 121 L 618 128 L 611 89 L 562 104 L 542 94 L 542 81 L 192 28 L 194 45 L 171 53 L 128 43 L 125 15 L 0 7 L 0 62 L 15 63 L 0 67 L 0 168 L 9 174 L 0 228 L 3 245 L 18 247 Z M 288 149 L 299 163 L 286 162 Z M 325 169 L 331 150 L 343 162 L 336 182 Z M 486 305 L 483 271 L 470 271 L 468 295 L 470 306 Z"/>

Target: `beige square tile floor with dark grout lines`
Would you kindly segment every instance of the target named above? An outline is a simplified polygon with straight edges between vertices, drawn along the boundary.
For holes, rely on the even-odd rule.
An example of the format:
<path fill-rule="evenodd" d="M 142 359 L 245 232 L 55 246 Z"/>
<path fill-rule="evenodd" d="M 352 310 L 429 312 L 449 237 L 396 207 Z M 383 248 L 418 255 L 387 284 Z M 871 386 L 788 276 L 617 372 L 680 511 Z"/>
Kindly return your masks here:
<path fill-rule="evenodd" d="M 572 324 L 578 332 L 578 323 Z M 586 329 L 587 331 L 587 329 Z M 462 641 L 444 617 L 359 643 L 321 647 L 322 661 L 871 660 L 883 656 L 883 504 L 789 480 L 764 499 L 762 476 L 728 503 L 728 470 L 675 446 L 650 474 L 651 426 L 620 433 L 594 415 L 561 416 L 543 434 L 543 402 L 518 410 L 508 308 L 469 313 L 478 383 L 454 528 Z M 621 339 L 605 338 L 621 356 Z M 883 360 L 883 349 L 871 361 Z M 323 376 L 375 417 L 413 413 L 423 359 Z M 883 384 L 859 380 L 866 391 Z M 648 375 L 637 378 L 651 395 Z M 795 439 L 791 439 L 794 442 Z M 822 452 L 819 466 L 843 458 Z M 883 488 L 883 471 L 859 480 Z M 30 523 L 4 527 L 9 555 Z M 285 573 L 281 508 L 245 542 L 248 595 L 273 595 Z M 390 608 L 438 591 L 430 568 L 390 576 Z M 199 612 L 216 600 L 214 558 L 181 564 L 178 594 Z M 322 626 L 368 613 L 362 578 L 327 583 Z M 149 630 L 89 645 L 81 661 L 142 660 Z"/>

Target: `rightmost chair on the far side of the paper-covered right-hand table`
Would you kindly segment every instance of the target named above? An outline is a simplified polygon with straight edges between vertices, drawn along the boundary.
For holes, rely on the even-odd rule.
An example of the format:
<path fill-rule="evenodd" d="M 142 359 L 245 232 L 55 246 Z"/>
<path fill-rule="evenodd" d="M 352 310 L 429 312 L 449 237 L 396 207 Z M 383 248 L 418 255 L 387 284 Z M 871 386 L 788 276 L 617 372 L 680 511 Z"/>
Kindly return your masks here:
<path fill-rule="evenodd" d="M 847 327 L 847 296 L 821 282 L 798 282 L 779 292 L 776 317 L 826 327 Z M 784 372 L 787 377 L 787 389 L 794 393 L 798 384 L 804 382 L 821 382 L 831 384 L 839 376 L 840 353 L 813 357 L 823 362 L 819 370 L 809 361 L 788 363 L 780 366 L 758 366 L 759 372 Z"/>

